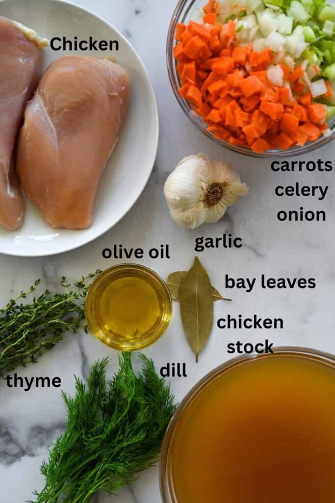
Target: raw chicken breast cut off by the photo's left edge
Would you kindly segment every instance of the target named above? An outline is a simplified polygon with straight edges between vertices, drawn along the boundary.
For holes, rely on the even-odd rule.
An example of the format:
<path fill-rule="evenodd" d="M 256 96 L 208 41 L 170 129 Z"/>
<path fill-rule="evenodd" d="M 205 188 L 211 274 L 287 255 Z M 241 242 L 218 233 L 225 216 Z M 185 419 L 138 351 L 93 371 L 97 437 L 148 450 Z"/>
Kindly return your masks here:
<path fill-rule="evenodd" d="M 20 227 L 24 200 L 14 146 L 27 101 L 41 74 L 42 51 L 13 21 L 0 17 L 0 225 Z"/>

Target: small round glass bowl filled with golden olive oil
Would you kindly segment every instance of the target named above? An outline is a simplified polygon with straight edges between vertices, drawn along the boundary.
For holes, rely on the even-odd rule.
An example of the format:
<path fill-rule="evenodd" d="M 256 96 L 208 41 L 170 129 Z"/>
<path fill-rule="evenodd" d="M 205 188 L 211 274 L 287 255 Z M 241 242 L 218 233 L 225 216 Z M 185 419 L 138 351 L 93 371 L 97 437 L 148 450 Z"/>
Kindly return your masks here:
<path fill-rule="evenodd" d="M 111 267 L 91 284 L 85 312 L 94 336 L 110 348 L 137 351 L 155 343 L 172 317 L 165 282 L 136 264 Z"/>

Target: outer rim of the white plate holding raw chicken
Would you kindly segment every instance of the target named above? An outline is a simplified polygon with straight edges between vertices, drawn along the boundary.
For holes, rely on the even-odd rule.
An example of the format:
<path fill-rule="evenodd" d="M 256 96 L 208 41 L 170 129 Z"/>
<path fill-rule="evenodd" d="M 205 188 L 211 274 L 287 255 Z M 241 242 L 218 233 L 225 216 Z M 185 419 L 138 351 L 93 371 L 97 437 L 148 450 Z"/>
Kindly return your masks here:
<path fill-rule="evenodd" d="M 147 69 L 146 65 L 144 64 L 144 62 L 142 61 L 142 58 L 140 57 L 140 55 L 138 54 L 136 49 L 132 46 L 132 44 L 127 40 L 127 38 L 117 28 L 115 28 L 110 23 L 108 23 L 108 21 L 106 21 L 103 17 L 100 17 L 97 14 L 95 14 L 94 12 L 92 12 L 90 9 L 87 9 L 86 7 L 81 7 L 81 6 L 74 4 L 72 2 L 68 2 L 68 0 L 48 0 L 48 1 L 49 1 L 49 3 L 56 3 L 56 4 L 60 4 L 60 5 L 64 5 L 64 6 L 74 7 L 76 9 L 78 9 L 79 11 L 85 12 L 86 14 L 93 16 L 93 18 L 104 23 L 107 27 L 114 30 L 118 34 L 120 39 L 123 41 L 123 43 L 125 43 L 132 50 L 132 52 L 135 54 L 137 60 L 139 61 L 140 65 L 142 67 L 142 70 L 145 74 L 145 77 L 148 81 L 148 86 L 149 86 L 150 94 L 152 96 L 153 105 L 154 105 L 154 119 L 155 119 L 155 135 L 154 135 L 154 140 L 153 140 L 154 158 L 152 161 L 151 169 L 149 170 L 148 175 L 145 177 L 143 183 L 141 184 L 142 187 L 141 187 L 141 190 L 139 191 L 138 196 L 135 198 L 135 200 L 132 203 L 130 203 L 130 205 L 128 205 L 126 207 L 123 215 L 120 216 L 112 225 L 107 226 L 107 228 L 105 228 L 102 231 L 98 231 L 97 234 L 95 234 L 91 237 L 88 237 L 87 240 L 85 240 L 84 242 L 82 242 L 80 244 L 75 244 L 75 242 L 74 242 L 73 244 L 67 245 L 61 251 L 56 251 L 55 253 L 53 253 L 52 251 L 47 250 L 47 249 L 44 250 L 44 252 L 42 251 L 41 253 L 35 253 L 33 250 L 32 250 L 32 253 L 24 253 L 24 249 L 25 249 L 24 247 L 22 248 L 22 250 L 20 250 L 20 247 L 18 247 L 17 251 L 15 251 L 15 250 L 14 251 L 6 251 L 6 250 L 4 251 L 4 250 L 0 249 L 0 255 L 10 256 L 10 257 L 26 257 L 26 258 L 54 257 L 57 255 L 67 253 L 68 251 L 72 251 L 72 250 L 81 248 L 82 246 L 85 246 L 86 244 L 91 243 L 92 241 L 97 239 L 98 237 L 101 237 L 102 235 L 104 235 L 106 232 L 108 232 L 110 229 L 112 229 L 115 225 L 117 225 L 130 212 L 130 210 L 133 208 L 133 206 L 139 200 L 140 196 L 142 195 L 142 193 L 143 193 L 144 189 L 146 188 L 146 186 L 149 182 L 149 179 L 152 175 L 152 171 L 154 169 L 155 162 L 157 159 L 157 153 L 158 153 L 160 123 L 159 123 L 159 112 L 158 112 L 157 98 L 156 98 L 155 90 L 153 88 L 153 85 L 152 85 L 150 77 L 149 77 L 148 69 Z M 9 3 L 10 0 L 0 0 L 0 5 L 5 2 Z M 99 181 L 99 183 L 100 183 L 100 181 Z M 52 226 L 50 226 L 50 229 L 57 231 L 57 228 L 52 227 Z M 85 230 L 86 229 L 84 229 L 84 231 Z M 81 232 L 81 231 L 78 230 L 78 232 Z M 20 253 L 20 251 L 21 251 L 21 253 Z"/>

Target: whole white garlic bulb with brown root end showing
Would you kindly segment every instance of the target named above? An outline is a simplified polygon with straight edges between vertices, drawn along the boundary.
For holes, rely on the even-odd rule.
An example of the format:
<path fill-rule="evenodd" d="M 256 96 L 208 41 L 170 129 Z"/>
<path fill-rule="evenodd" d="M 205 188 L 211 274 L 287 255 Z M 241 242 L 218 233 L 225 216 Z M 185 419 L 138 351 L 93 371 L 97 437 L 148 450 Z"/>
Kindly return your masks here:
<path fill-rule="evenodd" d="M 182 159 L 164 185 L 171 217 L 190 229 L 217 222 L 246 194 L 248 187 L 230 164 L 212 162 L 203 154 Z"/>

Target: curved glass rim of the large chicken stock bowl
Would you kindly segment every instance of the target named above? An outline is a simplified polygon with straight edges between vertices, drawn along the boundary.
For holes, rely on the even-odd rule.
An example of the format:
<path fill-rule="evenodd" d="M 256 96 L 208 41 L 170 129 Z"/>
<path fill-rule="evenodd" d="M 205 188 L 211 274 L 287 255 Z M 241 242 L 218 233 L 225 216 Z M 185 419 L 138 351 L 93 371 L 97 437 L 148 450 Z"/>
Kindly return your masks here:
<path fill-rule="evenodd" d="M 309 357 L 316 357 L 319 360 L 322 360 L 323 362 L 331 362 L 332 366 L 335 368 L 335 355 L 327 352 L 323 352 L 320 350 L 315 350 L 311 348 L 304 348 L 304 347 L 298 347 L 298 346 L 278 346 L 276 348 L 273 348 L 274 354 L 294 354 L 297 356 L 309 356 Z M 199 392 L 201 388 L 203 388 L 208 382 L 211 381 L 215 376 L 221 374 L 223 371 L 229 369 L 230 367 L 236 367 L 241 364 L 244 364 L 248 361 L 252 361 L 255 359 L 261 359 L 261 358 L 271 358 L 272 355 L 270 354 L 257 354 L 257 353 L 252 353 L 251 355 L 241 355 L 236 358 L 232 358 L 228 360 L 225 363 L 222 363 L 221 365 L 215 367 L 213 370 L 208 372 L 204 377 L 202 377 L 192 388 L 190 391 L 185 395 L 185 397 L 181 400 L 179 403 L 174 415 L 171 418 L 171 421 L 167 427 L 167 430 L 165 432 L 165 436 L 163 439 L 163 444 L 162 444 L 162 449 L 161 449 L 161 454 L 160 454 L 160 459 L 159 459 L 159 486 L 160 486 L 160 494 L 161 494 L 161 500 L 163 503 L 178 503 L 176 499 L 171 498 L 170 494 L 170 489 L 169 489 L 169 477 L 168 477 L 168 472 L 167 472 L 167 459 L 168 459 L 168 453 L 169 453 L 169 447 L 172 439 L 172 434 L 174 432 L 174 429 L 179 421 L 179 418 L 183 411 L 185 410 L 186 406 L 190 403 L 190 401 L 196 396 L 196 394 Z"/>

